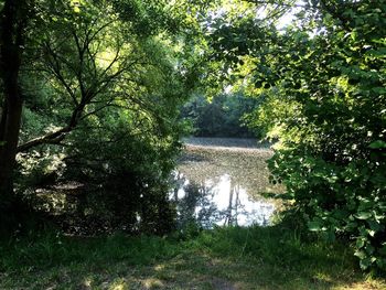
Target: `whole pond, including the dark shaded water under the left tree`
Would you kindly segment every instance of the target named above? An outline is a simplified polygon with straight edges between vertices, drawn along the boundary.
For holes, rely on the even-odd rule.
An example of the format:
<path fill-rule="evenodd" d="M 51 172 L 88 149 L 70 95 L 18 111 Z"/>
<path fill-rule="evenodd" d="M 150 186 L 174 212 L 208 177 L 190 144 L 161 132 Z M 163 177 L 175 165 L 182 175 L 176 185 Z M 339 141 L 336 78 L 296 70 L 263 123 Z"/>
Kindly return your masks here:
<path fill-rule="evenodd" d="M 266 160 L 271 155 L 269 147 L 257 147 L 256 141 L 249 139 L 186 140 L 184 153 L 172 174 L 170 192 L 179 227 L 192 222 L 203 228 L 269 225 L 280 204 L 262 197 L 261 193 L 282 191 L 268 182 Z M 95 235 L 117 229 L 133 233 L 148 226 L 142 215 L 149 213 L 140 212 L 141 200 L 128 198 L 116 203 L 115 189 L 109 191 L 109 187 L 98 184 L 66 181 L 29 189 L 25 196 L 33 201 L 35 210 L 47 213 L 65 233 L 72 235 Z M 126 205 L 132 206 L 132 212 L 127 212 Z M 153 221 L 147 223 L 156 224 Z"/>

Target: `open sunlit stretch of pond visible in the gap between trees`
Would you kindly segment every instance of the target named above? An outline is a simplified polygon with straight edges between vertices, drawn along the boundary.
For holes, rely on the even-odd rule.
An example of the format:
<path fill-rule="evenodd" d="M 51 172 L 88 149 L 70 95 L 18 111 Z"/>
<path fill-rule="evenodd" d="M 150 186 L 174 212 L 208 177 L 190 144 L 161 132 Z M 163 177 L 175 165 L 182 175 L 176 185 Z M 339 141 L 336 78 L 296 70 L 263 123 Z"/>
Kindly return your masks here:
<path fill-rule="evenodd" d="M 272 151 L 249 139 L 193 138 L 173 173 L 180 225 L 269 225 L 278 203 L 261 193 L 282 189 L 268 182 L 266 160 Z"/>

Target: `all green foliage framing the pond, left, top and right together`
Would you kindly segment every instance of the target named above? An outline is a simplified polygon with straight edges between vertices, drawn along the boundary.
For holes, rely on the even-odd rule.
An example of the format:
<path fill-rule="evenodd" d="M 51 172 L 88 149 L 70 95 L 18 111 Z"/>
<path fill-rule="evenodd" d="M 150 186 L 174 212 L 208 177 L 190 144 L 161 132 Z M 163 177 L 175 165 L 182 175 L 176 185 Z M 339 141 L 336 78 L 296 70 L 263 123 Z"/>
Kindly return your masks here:
<path fill-rule="evenodd" d="M 298 19 L 278 31 L 294 7 Z M 4 0 L 0 9 L 1 221 L 29 212 L 19 195 L 32 192 L 34 203 L 74 181 L 86 185 L 76 223 L 171 230 L 178 109 L 197 84 L 212 96 L 232 84 L 260 100 L 197 97 L 185 114 L 199 133 L 240 133 L 239 117 L 258 105 L 248 122 L 279 139 L 272 182 L 312 232 L 349 237 L 363 269 L 386 270 L 384 1 Z"/>

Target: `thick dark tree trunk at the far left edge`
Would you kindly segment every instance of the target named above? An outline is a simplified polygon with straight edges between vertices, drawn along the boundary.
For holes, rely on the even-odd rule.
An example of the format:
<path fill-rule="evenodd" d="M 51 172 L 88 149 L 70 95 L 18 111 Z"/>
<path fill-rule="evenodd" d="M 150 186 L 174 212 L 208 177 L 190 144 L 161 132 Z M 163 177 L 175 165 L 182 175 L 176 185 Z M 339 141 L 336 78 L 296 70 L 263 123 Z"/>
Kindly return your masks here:
<path fill-rule="evenodd" d="M 6 0 L 0 23 L 0 74 L 3 104 L 0 118 L 0 216 L 1 225 L 14 216 L 13 168 L 22 112 L 22 94 L 19 88 L 19 72 L 23 47 L 26 15 L 24 1 Z"/>

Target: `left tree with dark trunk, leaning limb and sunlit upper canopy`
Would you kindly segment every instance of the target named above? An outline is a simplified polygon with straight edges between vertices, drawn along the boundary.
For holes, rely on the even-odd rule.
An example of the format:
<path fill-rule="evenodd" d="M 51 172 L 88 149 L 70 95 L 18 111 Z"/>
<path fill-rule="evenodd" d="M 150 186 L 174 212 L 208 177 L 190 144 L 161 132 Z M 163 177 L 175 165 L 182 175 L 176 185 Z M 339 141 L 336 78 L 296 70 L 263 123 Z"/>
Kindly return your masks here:
<path fill-rule="evenodd" d="M 135 122 L 132 118 L 140 116 L 146 125 L 139 125 L 138 133 L 164 128 L 168 133 L 162 138 L 176 146 L 178 130 L 171 133 L 168 128 L 183 99 L 185 80 L 183 65 L 176 62 L 183 52 L 172 45 L 172 39 L 178 39 L 183 12 L 160 1 L 47 0 L 6 1 L 2 14 L 2 213 L 18 215 L 18 205 L 6 202 L 6 192 L 9 200 L 15 196 L 17 153 L 23 153 L 19 154 L 23 163 L 36 148 L 74 149 L 75 131 L 86 128 L 90 119 L 96 125 L 126 115 L 122 119 Z M 39 126 L 33 128 L 32 122 Z"/>

